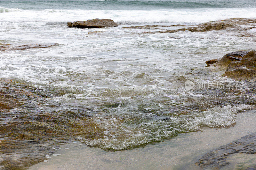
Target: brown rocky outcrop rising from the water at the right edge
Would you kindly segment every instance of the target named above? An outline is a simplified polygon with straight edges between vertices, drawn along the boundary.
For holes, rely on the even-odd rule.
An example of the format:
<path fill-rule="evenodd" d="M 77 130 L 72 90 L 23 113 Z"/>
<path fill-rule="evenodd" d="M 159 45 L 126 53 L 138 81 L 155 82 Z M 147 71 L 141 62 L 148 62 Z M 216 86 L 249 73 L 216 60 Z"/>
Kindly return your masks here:
<path fill-rule="evenodd" d="M 219 66 L 226 69 L 223 76 L 234 79 L 256 79 L 256 51 L 236 51 L 224 55 L 221 59 L 208 60 L 206 67 Z"/>

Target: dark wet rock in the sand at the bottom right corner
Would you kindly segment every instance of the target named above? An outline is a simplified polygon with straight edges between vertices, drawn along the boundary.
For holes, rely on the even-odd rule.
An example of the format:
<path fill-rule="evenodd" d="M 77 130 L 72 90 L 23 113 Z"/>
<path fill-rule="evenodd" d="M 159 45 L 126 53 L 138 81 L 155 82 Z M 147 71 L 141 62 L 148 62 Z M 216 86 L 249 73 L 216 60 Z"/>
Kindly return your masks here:
<path fill-rule="evenodd" d="M 256 133 L 241 137 L 229 144 L 223 145 L 216 150 L 206 153 L 196 162 L 196 165 L 204 169 L 220 169 L 229 165 L 228 157 L 235 153 L 256 153 Z M 248 169 L 255 169 L 256 166 Z"/>

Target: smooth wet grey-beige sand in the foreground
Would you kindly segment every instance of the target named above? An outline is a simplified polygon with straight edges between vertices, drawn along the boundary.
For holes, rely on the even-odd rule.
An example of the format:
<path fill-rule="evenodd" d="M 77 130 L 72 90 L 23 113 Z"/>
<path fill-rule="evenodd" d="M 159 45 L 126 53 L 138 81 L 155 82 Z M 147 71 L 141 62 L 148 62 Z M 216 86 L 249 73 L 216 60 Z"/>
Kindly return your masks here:
<path fill-rule="evenodd" d="M 204 153 L 254 133 L 255 124 L 256 110 L 240 112 L 232 127 L 203 128 L 203 131 L 179 134 L 163 143 L 116 152 L 90 148 L 74 141 L 76 143 L 65 144 L 58 149 L 56 154 L 61 155 L 50 155 L 52 158 L 48 162 L 41 162 L 30 169 L 200 169 L 195 163 Z M 252 154 L 236 154 L 228 159 L 231 164 L 222 169 L 249 167 L 256 164 L 255 159 Z"/>

